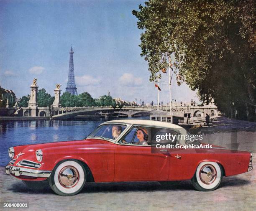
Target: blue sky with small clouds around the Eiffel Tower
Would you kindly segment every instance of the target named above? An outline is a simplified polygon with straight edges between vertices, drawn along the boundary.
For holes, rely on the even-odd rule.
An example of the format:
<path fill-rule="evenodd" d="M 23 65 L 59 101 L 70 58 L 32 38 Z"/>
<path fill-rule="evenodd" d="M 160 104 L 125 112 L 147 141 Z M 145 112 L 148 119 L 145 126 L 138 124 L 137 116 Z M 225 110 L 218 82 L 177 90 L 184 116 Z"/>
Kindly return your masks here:
<path fill-rule="evenodd" d="M 18 97 L 38 86 L 54 95 L 67 86 L 69 50 L 74 50 L 77 92 L 157 102 L 148 64 L 140 56 L 141 30 L 131 14 L 140 0 L 0 0 L 0 86 Z M 167 75 L 163 78 L 167 81 Z M 160 101 L 169 101 L 162 85 Z M 173 85 L 172 98 L 196 98 L 186 84 Z M 137 100 L 138 101 L 138 100 Z"/>

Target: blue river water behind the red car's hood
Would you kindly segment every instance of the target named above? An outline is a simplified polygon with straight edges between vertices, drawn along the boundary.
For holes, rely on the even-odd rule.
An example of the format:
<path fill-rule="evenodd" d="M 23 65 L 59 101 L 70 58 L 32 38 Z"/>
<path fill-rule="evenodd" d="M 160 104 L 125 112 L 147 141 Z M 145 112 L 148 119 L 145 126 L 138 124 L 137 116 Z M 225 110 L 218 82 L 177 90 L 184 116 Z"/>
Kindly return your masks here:
<path fill-rule="evenodd" d="M 149 117 L 139 119 L 149 119 Z M 82 140 L 102 122 L 105 121 L 0 121 L 0 166 L 5 166 L 10 161 L 9 147 Z"/>

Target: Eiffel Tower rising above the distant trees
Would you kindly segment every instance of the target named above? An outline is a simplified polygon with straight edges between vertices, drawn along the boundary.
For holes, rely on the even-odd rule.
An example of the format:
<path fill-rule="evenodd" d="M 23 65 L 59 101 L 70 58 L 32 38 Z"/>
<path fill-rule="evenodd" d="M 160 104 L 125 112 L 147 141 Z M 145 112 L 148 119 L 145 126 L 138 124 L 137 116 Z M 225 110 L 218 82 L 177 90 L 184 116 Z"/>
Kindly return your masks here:
<path fill-rule="evenodd" d="M 68 83 L 66 87 L 66 92 L 77 95 L 77 87 L 76 87 L 76 82 L 74 80 L 73 54 L 74 54 L 74 51 L 71 46 L 71 49 L 69 51 L 69 78 L 68 78 Z"/>

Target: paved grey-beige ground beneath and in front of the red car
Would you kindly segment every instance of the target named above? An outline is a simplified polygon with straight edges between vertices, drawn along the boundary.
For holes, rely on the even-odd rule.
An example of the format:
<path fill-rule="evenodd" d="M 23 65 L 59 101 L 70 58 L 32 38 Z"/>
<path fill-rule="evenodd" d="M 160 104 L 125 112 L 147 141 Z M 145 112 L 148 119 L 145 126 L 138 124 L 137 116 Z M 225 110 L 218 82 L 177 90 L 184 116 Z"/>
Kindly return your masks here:
<path fill-rule="evenodd" d="M 50 188 L 29 190 L 1 167 L 0 201 L 27 201 L 28 209 L 4 209 L 24 211 L 255 211 L 256 159 L 253 166 L 250 172 L 223 178 L 220 188 L 212 192 L 195 191 L 190 181 L 169 189 L 158 182 L 88 183 L 82 193 L 70 197 L 58 196 Z"/>

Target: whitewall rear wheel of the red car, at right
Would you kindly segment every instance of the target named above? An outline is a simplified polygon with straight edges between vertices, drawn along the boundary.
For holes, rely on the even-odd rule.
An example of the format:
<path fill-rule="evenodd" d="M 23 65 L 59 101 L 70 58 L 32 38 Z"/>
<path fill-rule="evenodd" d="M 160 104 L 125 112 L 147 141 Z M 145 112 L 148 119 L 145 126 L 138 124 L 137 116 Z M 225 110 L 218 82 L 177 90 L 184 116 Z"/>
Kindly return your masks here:
<path fill-rule="evenodd" d="M 197 191 L 213 191 L 220 185 L 222 177 L 223 170 L 218 163 L 202 162 L 191 182 Z"/>

